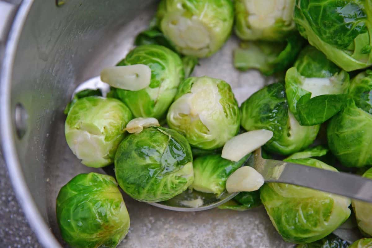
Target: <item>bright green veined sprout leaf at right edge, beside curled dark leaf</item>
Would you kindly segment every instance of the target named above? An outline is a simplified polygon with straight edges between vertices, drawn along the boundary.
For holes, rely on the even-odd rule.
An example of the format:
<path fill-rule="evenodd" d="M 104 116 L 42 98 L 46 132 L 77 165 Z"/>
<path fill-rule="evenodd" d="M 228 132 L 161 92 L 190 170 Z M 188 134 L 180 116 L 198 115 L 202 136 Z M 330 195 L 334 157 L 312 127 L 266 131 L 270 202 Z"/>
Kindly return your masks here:
<path fill-rule="evenodd" d="M 347 167 L 372 165 L 372 115 L 358 108 L 353 99 L 336 114 L 327 128 L 328 147 Z"/>

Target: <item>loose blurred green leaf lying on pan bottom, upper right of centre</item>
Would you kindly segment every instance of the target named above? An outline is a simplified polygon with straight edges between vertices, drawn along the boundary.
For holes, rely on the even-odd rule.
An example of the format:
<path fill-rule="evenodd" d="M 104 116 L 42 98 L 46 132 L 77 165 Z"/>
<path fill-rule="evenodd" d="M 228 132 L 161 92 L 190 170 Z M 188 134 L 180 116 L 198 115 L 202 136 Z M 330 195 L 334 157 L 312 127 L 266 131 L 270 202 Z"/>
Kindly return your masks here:
<path fill-rule="evenodd" d="M 234 50 L 234 66 L 241 71 L 258 69 L 270 76 L 292 66 L 304 43 L 298 33 L 284 42 L 243 42 Z"/>

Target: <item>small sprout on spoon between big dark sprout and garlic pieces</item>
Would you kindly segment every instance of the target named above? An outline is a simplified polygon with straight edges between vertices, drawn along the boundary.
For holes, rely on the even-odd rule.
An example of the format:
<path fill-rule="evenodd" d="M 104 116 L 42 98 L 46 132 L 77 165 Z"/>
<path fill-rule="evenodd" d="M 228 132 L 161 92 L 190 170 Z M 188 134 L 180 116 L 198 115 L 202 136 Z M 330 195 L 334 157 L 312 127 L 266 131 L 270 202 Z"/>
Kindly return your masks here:
<path fill-rule="evenodd" d="M 250 155 L 237 162 L 222 159 L 221 154 L 198 157 L 193 162 L 194 182 L 192 188 L 200 192 L 221 195 L 226 190 L 226 180 L 240 168 Z"/>

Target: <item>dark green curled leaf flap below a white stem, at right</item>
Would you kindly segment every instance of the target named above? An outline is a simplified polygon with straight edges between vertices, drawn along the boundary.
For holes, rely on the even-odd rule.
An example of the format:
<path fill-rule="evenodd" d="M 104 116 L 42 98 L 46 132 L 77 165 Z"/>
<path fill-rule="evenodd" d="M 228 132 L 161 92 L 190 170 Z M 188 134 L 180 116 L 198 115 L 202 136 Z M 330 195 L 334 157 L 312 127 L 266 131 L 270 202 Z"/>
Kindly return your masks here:
<path fill-rule="evenodd" d="M 322 124 L 340 112 L 347 95 L 320 95 L 311 98 L 311 94 L 303 95 L 297 103 L 299 124 L 312 126 Z"/>

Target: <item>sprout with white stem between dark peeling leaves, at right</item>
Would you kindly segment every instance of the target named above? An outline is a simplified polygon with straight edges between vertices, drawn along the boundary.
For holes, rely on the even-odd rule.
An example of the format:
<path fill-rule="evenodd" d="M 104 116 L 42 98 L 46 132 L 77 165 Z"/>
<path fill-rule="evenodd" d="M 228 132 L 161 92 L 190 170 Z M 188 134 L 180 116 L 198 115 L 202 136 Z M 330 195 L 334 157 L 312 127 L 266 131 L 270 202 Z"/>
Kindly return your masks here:
<path fill-rule="evenodd" d="M 312 46 L 301 51 L 285 77 L 289 110 L 306 126 L 324 123 L 337 114 L 348 87 L 349 74 Z"/>

